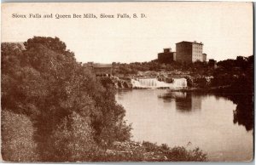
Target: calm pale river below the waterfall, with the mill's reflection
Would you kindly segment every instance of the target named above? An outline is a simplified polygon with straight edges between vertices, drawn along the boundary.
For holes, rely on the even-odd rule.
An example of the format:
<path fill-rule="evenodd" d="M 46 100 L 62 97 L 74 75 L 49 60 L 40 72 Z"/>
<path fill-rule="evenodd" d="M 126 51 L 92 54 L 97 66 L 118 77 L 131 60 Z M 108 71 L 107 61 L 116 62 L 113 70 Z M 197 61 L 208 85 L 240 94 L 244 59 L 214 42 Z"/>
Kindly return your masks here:
<path fill-rule="evenodd" d="M 253 130 L 234 122 L 236 105 L 213 94 L 171 92 L 168 89 L 121 90 L 116 100 L 132 123 L 132 140 L 196 146 L 210 161 L 249 161 Z"/>

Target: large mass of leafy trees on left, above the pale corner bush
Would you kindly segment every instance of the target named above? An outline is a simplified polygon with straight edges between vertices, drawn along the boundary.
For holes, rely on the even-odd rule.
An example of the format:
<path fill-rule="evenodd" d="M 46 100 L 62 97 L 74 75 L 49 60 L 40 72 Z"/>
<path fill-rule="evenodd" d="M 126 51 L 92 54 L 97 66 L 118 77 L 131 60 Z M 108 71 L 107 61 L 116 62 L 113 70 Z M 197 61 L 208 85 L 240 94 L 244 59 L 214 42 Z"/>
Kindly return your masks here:
<path fill-rule="evenodd" d="M 130 138 L 125 110 L 114 100 L 111 85 L 102 86 L 65 43 L 33 37 L 25 47 L 2 44 L 1 99 L 3 113 L 9 110 L 32 122 L 38 156 L 31 154 L 30 161 L 86 161 L 90 156 L 84 153 L 91 148 Z M 67 139 L 70 144 L 60 145 Z"/>

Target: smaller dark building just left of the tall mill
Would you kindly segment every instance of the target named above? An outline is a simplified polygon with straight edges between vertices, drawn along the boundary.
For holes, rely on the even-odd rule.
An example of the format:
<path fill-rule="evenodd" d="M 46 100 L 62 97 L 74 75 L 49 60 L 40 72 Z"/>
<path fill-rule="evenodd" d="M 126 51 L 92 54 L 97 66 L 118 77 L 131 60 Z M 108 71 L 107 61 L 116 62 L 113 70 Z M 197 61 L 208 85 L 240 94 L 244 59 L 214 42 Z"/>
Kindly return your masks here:
<path fill-rule="evenodd" d="M 158 54 L 158 61 L 160 63 L 170 64 L 176 60 L 176 52 L 172 52 L 172 48 L 164 48 L 163 53 Z"/>

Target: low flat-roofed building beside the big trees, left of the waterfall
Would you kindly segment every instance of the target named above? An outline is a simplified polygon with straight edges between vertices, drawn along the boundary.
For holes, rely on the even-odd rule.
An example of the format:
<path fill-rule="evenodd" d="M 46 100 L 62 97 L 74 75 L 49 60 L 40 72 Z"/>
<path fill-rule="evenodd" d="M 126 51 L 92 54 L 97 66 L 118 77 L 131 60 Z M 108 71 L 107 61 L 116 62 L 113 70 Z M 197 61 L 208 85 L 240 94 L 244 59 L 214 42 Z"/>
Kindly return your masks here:
<path fill-rule="evenodd" d="M 112 64 L 88 62 L 84 66 L 96 74 L 97 77 L 108 77 L 112 75 Z"/>

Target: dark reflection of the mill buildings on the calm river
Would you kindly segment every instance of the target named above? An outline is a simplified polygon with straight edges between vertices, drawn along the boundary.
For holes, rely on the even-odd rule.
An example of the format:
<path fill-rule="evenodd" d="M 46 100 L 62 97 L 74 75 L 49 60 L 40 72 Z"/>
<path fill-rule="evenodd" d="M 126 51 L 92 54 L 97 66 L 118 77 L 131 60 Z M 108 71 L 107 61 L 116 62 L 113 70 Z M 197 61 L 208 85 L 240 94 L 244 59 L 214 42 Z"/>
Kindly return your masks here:
<path fill-rule="evenodd" d="M 201 96 L 193 95 L 186 92 L 167 92 L 160 94 L 159 98 L 167 101 L 175 101 L 176 110 L 181 112 L 200 111 Z"/>

